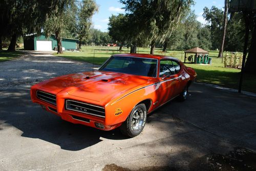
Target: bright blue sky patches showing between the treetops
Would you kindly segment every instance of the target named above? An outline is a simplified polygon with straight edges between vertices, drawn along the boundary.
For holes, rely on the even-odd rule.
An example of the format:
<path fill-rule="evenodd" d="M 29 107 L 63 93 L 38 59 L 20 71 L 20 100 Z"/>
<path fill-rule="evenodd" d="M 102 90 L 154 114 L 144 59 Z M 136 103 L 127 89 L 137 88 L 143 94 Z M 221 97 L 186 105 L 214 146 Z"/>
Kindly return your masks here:
<path fill-rule="evenodd" d="M 192 10 L 195 10 L 197 20 L 202 24 L 206 24 L 202 14 L 203 8 L 216 6 L 218 8 L 224 7 L 224 0 L 195 0 L 195 5 L 191 7 Z M 119 3 L 118 0 L 96 0 L 99 10 L 93 15 L 93 27 L 99 29 L 103 32 L 108 31 L 109 17 L 113 15 L 118 15 L 118 13 L 124 13 L 124 10 L 121 9 L 124 7 Z"/>

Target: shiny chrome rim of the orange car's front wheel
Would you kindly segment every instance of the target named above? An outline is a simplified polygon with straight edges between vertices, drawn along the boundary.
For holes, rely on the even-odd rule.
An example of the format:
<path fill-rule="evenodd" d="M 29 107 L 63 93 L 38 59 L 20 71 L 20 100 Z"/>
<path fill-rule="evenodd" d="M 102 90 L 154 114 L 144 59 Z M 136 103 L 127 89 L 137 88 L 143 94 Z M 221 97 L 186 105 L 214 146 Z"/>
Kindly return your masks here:
<path fill-rule="evenodd" d="M 133 131 L 141 130 L 144 122 L 144 114 L 145 111 L 142 108 L 138 108 L 134 111 L 131 122 Z"/>

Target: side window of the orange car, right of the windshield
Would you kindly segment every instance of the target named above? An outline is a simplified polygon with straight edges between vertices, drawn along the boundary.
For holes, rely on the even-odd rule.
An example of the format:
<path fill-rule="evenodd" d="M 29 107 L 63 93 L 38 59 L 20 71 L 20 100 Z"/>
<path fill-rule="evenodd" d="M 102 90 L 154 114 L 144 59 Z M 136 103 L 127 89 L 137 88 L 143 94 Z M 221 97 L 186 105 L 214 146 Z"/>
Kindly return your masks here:
<path fill-rule="evenodd" d="M 180 71 L 180 65 L 174 60 L 161 60 L 159 77 L 164 77 L 167 74 L 174 75 Z"/>

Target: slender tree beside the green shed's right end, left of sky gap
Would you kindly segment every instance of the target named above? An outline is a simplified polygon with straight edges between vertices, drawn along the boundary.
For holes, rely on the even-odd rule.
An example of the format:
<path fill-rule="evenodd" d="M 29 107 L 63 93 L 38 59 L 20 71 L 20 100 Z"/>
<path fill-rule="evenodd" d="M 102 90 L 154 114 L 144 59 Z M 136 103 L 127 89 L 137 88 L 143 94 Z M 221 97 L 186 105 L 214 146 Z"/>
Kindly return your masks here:
<path fill-rule="evenodd" d="M 82 40 L 89 36 L 89 30 L 92 25 L 92 15 L 96 11 L 98 11 L 98 7 L 94 0 L 83 0 L 80 2 L 77 25 L 79 49 L 81 49 Z"/>

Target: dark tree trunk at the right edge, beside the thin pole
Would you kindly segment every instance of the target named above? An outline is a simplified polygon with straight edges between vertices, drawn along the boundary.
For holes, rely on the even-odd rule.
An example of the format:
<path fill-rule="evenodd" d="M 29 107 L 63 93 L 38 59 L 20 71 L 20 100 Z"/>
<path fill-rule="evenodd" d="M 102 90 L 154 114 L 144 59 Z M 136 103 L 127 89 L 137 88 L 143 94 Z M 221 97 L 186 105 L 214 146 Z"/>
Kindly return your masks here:
<path fill-rule="evenodd" d="M 251 45 L 249 48 L 244 71 L 250 74 L 256 74 L 256 20 L 254 22 L 254 30 L 251 37 Z"/>

